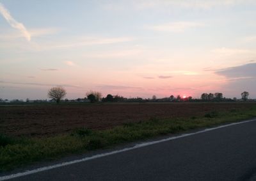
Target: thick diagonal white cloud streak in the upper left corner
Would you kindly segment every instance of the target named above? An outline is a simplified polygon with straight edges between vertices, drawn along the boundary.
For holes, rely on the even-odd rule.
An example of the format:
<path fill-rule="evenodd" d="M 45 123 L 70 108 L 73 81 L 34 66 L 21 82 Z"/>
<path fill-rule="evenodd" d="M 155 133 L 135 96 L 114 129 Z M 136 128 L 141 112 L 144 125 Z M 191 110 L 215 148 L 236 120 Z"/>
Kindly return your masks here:
<path fill-rule="evenodd" d="M 26 27 L 20 23 L 17 22 L 17 20 L 13 19 L 12 15 L 8 10 L 4 7 L 2 3 L 0 3 L 0 13 L 3 15 L 4 19 L 12 26 L 12 28 L 19 29 L 19 31 L 22 33 L 22 35 L 28 40 L 31 40 L 31 35 L 26 29 Z"/>

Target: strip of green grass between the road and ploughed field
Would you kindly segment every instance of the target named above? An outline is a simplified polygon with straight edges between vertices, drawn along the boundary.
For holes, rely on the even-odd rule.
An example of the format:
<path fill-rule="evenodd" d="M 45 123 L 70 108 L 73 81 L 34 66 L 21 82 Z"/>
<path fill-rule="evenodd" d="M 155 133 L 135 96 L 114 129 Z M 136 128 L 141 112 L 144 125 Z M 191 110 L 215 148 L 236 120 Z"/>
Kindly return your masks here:
<path fill-rule="evenodd" d="M 109 148 L 122 143 L 145 140 L 154 136 L 186 130 L 213 127 L 256 117 L 256 107 L 243 111 L 212 111 L 201 117 L 151 118 L 145 122 L 125 123 L 108 130 L 80 128 L 65 135 L 50 138 L 12 138 L 0 134 L 0 171 L 19 168 L 38 161 L 58 159 L 74 153 Z"/>

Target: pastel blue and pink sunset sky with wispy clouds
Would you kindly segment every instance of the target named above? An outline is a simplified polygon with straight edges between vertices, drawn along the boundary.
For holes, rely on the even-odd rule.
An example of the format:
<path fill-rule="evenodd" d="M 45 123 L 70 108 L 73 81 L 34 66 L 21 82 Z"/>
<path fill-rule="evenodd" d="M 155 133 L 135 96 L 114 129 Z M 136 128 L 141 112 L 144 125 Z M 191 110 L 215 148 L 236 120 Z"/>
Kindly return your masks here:
<path fill-rule="evenodd" d="M 0 0 L 0 98 L 256 98 L 256 1 Z"/>

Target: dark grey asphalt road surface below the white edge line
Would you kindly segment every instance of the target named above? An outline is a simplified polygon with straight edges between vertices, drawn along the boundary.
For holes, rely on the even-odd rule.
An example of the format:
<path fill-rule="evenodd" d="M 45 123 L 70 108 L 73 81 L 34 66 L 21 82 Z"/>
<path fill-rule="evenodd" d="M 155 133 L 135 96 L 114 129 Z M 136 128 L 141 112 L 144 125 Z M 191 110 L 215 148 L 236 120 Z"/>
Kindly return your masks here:
<path fill-rule="evenodd" d="M 256 180 L 256 122 L 42 171 L 13 180 Z"/>

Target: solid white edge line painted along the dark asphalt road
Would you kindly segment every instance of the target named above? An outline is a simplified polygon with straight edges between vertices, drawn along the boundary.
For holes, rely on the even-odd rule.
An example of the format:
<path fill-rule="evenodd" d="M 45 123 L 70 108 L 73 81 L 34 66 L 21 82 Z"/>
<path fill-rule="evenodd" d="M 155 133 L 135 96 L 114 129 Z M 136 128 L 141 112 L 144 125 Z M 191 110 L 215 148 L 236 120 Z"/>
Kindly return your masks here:
<path fill-rule="evenodd" d="M 60 163 L 60 164 L 54 164 L 52 166 L 44 166 L 42 168 L 36 168 L 36 169 L 21 172 L 21 173 L 15 173 L 15 174 L 12 174 L 12 175 L 5 175 L 3 177 L 0 177 L 0 180 L 8 180 L 8 179 L 11 179 L 11 178 L 17 178 L 17 177 L 22 177 L 22 176 L 25 176 L 25 175 L 31 175 L 33 173 L 38 173 L 38 172 L 41 172 L 41 171 L 46 171 L 46 170 L 54 169 L 54 168 L 60 168 L 62 166 L 67 166 L 67 165 L 70 165 L 70 164 L 76 164 L 76 163 L 79 163 L 79 162 L 90 161 L 92 159 L 97 159 L 97 158 L 100 158 L 100 157 L 106 157 L 108 155 L 113 155 L 113 154 L 116 154 L 116 153 L 127 152 L 129 150 L 134 150 L 136 148 L 142 148 L 142 147 L 149 146 L 149 145 L 154 145 L 154 144 L 157 144 L 157 143 L 163 143 L 165 141 L 170 141 L 170 140 L 173 140 L 173 139 L 184 138 L 184 137 L 187 137 L 187 136 L 200 134 L 202 132 L 208 132 L 208 131 L 215 130 L 215 129 L 221 129 L 223 127 L 230 127 L 232 125 L 239 125 L 239 124 L 248 123 L 248 122 L 255 122 L 255 121 L 256 120 L 248 120 L 248 121 L 244 121 L 244 122 L 230 123 L 228 125 L 221 125 L 219 127 L 213 127 L 213 128 L 209 128 L 209 129 L 200 130 L 198 132 L 182 134 L 180 136 L 173 136 L 173 137 L 170 137 L 170 138 L 160 139 L 160 140 L 157 140 L 157 141 L 150 141 L 150 142 L 140 143 L 138 145 L 128 147 L 128 148 L 124 148 L 122 150 L 115 150 L 115 151 L 112 151 L 112 152 L 93 155 L 92 157 L 85 157 L 83 159 L 78 159 L 78 160 L 75 160 L 75 161 L 63 162 L 63 163 Z"/>

